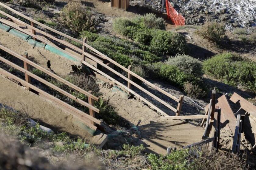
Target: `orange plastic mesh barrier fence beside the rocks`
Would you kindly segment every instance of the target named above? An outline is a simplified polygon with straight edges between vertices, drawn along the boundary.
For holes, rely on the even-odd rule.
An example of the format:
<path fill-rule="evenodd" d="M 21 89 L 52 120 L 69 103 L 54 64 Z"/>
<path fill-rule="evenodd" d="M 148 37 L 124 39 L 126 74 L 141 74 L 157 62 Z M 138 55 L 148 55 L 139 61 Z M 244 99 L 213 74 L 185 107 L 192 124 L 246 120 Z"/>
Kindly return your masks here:
<path fill-rule="evenodd" d="M 185 18 L 172 7 L 168 0 L 165 0 L 165 6 L 167 11 L 167 19 L 171 20 L 175 26 L 185 25 Z"/>

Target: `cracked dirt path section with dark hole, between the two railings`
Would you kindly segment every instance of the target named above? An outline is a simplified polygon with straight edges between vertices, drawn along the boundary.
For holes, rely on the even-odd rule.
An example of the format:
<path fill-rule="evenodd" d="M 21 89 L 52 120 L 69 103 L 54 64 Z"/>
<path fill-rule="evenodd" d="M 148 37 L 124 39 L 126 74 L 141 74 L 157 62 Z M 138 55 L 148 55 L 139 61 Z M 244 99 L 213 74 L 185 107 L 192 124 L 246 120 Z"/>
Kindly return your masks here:
<path fill-rule="evenodd" d="M 0 44 L 20 55 L 27 52 L 30 60 L 46 69 L 53 70 L 60 76 L 69 74 L 72 71 L 72 65 L 76 64 L 62 56 L 55 55 L 44 48 L 30 45 L 23 39 L 13 36 L 2 29 L 0 29 Z"/>

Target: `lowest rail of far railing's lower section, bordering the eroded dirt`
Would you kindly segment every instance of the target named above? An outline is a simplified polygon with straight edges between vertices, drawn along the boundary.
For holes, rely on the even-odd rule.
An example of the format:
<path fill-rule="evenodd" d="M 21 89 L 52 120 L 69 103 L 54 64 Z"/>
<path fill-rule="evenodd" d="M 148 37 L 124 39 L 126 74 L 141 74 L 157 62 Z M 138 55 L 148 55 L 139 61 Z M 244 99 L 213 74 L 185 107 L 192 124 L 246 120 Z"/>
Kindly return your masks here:
<path fill-rule="evenodd" d="M 88 66 L 89 68 L 91 68 L 92 70 L 100 73 L 101 75 L 103 75 L 104 77 L 106 77 L 107 79 L 113 81 L 114 83 L 118 84 L 119 86 L 123 87 L 125 90 L 129 91 L 131 94 L 133 94 L 134 96 L 138 97 L 140 100 L 144 101 L 146 104 L 148 104 L 150 107 L 152 107 L 153 109 L 155 109 L 156 111 L 158 111 L 159 113 L 165 115 L 165 116 L 169 116 L 168 114 L 166 114 L 164 111 L 162 111 L 161 109 L 159 109 L 158 107 L 156 107 L 154 104 L 151 104 L 148 100 L 146 100 L 144 97 L 140 96 L 139 94 L 137 94 L 136 92 L 134 92 L 131 89 L 128 89 L 126 86 L 124 86 L 122 83 L 120 83 L 119 81 L 115 80 L 114 78 L 108 76 L 106 73 L 103 73 L 101 70 L 95 68 L 94 66 L 92 66 L 91 64 L 86 63 L 85 61 L 82 61 L 82 63 L 86 66 Z"/>

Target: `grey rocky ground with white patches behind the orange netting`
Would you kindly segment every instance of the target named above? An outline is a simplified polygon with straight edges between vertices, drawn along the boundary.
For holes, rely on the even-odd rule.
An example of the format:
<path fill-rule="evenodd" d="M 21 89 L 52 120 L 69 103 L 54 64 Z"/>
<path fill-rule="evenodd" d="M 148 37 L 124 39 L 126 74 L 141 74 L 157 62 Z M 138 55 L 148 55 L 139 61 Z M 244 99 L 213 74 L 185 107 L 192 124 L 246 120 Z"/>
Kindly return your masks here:
<path fill-rule="evenodd" d="M 255 26 L 255 0 L 172 0 L 177 12 L 181 13 L 187 25 L 202 25 L 207 21 L 226 22 L 227 28 Z M 162 1 L 145 0 L 144 4 L 157 11 Z"/>

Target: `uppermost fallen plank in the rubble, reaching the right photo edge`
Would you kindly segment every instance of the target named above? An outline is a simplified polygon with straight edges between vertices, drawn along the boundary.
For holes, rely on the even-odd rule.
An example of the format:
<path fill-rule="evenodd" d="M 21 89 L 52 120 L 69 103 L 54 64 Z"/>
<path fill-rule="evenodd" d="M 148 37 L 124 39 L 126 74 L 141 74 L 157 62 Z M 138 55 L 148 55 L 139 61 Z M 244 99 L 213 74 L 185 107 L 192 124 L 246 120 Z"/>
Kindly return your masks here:
<path fill-rule="evenodd" d="M 243 108 L 248 113 L 252 114 L 254 117 L 256 117 L 256 106 L 254 106 L 252 103 L 238 95 L 237 93 L 234 93 L 230 99 L 233 103 L 239 102 L 241 105 L 241 108 Z"/>

